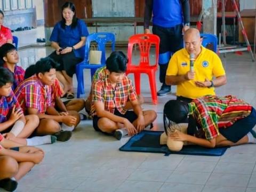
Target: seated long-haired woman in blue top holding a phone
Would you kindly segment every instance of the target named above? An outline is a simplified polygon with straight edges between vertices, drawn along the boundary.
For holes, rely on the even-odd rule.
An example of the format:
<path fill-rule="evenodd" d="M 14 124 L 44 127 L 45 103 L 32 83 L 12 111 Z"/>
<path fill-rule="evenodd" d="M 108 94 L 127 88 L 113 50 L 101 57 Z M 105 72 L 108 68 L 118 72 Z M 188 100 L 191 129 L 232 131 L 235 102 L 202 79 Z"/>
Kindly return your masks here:
<path fill-rule="evenodd" d="M 62 20 L 54 26 L 50 37 L 55 51 L 49 57 L 60 63 L 56 75 L 64 86 L 67 99 L 74 98 L 72 77 L 76 65 L 84 58 L 84 45 L 88 35 L 85 22 L 76 17 L 75 5 L 71 2 L 63 4 Z"/>

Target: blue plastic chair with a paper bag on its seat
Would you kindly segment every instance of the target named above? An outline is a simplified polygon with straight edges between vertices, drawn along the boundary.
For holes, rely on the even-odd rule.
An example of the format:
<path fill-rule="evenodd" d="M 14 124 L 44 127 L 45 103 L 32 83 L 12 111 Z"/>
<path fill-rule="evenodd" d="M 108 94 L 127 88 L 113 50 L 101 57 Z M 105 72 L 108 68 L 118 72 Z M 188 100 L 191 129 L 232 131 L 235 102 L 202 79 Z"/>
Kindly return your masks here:
<path fill-rule="evenodd" d="M 101 51 L 101 64 L 89 64 L 89 52 L 91 42 L 96 42 L 98 50 Z M 113 33 L 93 33 L 86 37 L 84 60 L 76 65 L 76 78 L 77 78 L 77 98 L 80 94 L 84 94 L 84 74 L 83 69 L 91 69 L 91 80 L 95 71 L 106 65 L 106 43 L 111 42 L 111 50 L 115 51 L 115 35 Z"/>

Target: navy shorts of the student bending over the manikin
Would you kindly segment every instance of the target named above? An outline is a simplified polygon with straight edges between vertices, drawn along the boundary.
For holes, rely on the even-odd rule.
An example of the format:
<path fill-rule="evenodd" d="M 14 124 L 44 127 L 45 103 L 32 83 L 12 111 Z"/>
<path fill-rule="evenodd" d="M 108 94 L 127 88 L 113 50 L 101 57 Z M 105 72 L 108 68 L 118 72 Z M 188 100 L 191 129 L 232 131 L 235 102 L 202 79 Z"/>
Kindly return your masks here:
<path fill-rule="evenodd" d="M 256 111 L 252 108 L 251 114 L 245 118 L 239 119 L 233 125 L 227 128 L 220 128 L 219 132 L 227 140 L 236 143 L 242 139 L 256 124 Z"/>

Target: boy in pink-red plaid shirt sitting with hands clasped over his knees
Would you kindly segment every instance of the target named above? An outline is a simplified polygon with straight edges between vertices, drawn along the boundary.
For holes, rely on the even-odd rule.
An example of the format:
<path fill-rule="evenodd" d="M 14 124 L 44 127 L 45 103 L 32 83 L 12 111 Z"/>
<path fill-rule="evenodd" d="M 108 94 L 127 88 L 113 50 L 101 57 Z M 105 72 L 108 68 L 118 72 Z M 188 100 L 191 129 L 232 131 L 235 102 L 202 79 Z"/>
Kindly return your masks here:
<path fill-rule="evenodd" d="M 58 63 L 47 57 L 37 61 L 35 75 L 23 81 L 15 89 L 15 95 L 25 113 L 38 115 L 40 123 L 36 134 L 53 134 L 57 140 L 67 141 L 72 134 L 70 128 L 74 129 L 79 119 L 62 115 L 52 107 L 51 85 L 56 78 L 57 66 Z"/>

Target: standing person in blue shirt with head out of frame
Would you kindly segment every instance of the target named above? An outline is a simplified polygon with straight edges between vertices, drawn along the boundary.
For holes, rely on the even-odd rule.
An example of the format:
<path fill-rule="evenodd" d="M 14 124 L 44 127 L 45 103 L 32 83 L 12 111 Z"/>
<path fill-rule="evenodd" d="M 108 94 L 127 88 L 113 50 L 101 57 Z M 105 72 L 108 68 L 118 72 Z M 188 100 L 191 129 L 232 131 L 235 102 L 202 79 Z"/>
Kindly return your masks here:
<path fill-rule="evenodd" d="M 159 80 L 162 84 L 158 96 L 171 92 L 165 84 L 165 75 L 171 55 L 183 48 L 182 34 L 189 29 L 189 0 L 145 0 L 144 30 L 150 34 L 149 23 L 153 14 L 153 34 L 159 36 Z"/>

